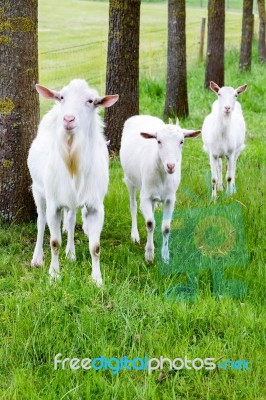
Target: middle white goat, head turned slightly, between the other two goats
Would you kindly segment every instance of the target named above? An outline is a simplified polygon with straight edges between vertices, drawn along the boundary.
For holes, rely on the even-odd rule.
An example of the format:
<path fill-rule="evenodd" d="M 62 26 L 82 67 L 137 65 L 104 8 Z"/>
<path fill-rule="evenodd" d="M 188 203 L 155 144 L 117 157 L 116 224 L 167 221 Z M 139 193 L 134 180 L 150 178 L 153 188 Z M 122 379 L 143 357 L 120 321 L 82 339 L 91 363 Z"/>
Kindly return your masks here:
<path fill-rule="evenodd" d="M 175 205 L 176 190 L 181 180 L 181 157 L 184 138 L 196 137 L 200 131 L 189 131 L 178 125 L 166 125 L 149 115 L 129 118 L 124 125 L 120 159 L 124 182 L 130 196 L 131 238 L 139 242 L 136 190 L 140 189 L 141 211 L 147 228 L 146 261 L 154 259 L 154 204 L 163 203 L 162 258 L 169 260 L 168 239 Z M 152 140 L 148 140 L 152 139 Z"/>

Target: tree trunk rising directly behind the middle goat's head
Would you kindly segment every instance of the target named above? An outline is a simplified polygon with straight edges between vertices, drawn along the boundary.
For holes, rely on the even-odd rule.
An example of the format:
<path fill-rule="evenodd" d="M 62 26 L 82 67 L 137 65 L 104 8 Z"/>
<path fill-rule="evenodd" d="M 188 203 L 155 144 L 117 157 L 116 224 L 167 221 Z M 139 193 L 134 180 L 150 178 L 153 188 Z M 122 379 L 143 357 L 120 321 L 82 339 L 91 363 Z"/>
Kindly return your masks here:
<path fill-rule="evenodd" d="M 185 0 L 168 0 L 167 85 L 164 114 L 188 116 Z"/>

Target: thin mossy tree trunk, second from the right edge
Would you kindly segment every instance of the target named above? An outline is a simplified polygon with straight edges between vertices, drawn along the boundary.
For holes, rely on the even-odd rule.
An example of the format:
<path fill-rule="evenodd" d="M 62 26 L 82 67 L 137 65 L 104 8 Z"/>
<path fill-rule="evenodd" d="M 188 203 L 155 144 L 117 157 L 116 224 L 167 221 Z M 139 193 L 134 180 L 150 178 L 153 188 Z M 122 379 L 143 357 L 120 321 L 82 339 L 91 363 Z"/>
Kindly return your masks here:
<path fill-rule="evenodd" d="M 241 71 L 251 69 L 253 26 L 253 0 L 243 0 L 242 37 L 239 59 L 239 69 Z"/>

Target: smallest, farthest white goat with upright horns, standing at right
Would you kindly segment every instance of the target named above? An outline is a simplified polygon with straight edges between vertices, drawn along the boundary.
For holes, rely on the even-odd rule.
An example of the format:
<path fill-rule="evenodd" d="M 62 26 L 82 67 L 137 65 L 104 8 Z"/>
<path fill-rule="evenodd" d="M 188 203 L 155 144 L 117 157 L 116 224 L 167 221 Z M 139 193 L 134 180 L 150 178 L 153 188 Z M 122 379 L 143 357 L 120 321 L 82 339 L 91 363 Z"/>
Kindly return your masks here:
<path fill-rule="evenodd" d="M 212 197 L 215 199 L 217 189 L 223 190 L 222 157 L 228 160 L 226 180 L 227 193 L 235 193 L 236 161 L 244 149 L 245 121 L 237 96 L 245 92 L 247 85 L 234 89 L 220 88 L 210 82 L 210 88 L 218 95 L 212 105 L 212 111 L 202 126 L 203 149 L 209 154 L 212 174 Z"/>

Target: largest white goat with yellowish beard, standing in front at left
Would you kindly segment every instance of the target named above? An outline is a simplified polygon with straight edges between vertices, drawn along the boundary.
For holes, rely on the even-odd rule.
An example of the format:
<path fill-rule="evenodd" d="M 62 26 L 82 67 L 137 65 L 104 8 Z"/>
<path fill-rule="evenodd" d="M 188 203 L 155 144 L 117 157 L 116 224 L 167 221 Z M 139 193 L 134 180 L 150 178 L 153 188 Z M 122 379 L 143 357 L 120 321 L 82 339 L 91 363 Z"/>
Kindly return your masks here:
<path fill-rule="evenodd" d="M 52 278 L 59 275 L 62 209 L 69 210 L 65 213 L 68 219 L 66 253 L 75 259 L 76 208 L 82 207 L 83 230 L 88 236 L 92 257 L 92 278 L 101 285 L 100 234 L 109 173 L 103 124 L 97 109 L 112 106 L 118 95 L 99 97 L 81 79 L 72 80 L 60 92 L 41 85 L 36 85 L 36 89 L 44 98 L 56 100 L 56 104 L 43 117 L 28 156 L 38 212 L 38 235 L 31 264 L 43 265 L 47 220 L 51 246 L 49 274 Z"/>

